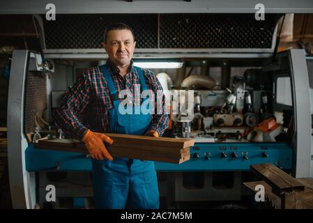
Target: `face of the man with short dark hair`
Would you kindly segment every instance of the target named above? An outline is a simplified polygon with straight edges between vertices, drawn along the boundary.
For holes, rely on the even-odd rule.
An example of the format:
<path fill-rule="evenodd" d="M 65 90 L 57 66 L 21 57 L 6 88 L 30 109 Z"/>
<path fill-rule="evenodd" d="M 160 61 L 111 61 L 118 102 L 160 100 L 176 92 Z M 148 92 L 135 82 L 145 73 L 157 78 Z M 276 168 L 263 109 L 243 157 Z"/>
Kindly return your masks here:
<path fill-rule="evenodd" d="M 107 43 L 102 43 L 102 45 L 109 55 L 109 60 L 116 66 L 123 67 L 130 64 L 136 42 L 130 30 L 121 29 L 109 31 Z"/>

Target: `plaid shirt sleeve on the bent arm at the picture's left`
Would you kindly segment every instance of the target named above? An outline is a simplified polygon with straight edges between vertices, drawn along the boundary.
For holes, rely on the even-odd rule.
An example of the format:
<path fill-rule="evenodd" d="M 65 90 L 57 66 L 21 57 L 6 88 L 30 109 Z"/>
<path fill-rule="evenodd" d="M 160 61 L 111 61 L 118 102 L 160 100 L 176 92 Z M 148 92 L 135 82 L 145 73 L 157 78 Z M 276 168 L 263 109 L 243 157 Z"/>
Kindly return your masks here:
<path fill-rule="evenodd" d="M 89 71 L 63 95 L 60 107 L 54 109 L 52 118 L 56 125 L 68 135 L 82 139 L 87 128 L 79 120 L 79 114 L 91 100 L 91 81 Z"/>

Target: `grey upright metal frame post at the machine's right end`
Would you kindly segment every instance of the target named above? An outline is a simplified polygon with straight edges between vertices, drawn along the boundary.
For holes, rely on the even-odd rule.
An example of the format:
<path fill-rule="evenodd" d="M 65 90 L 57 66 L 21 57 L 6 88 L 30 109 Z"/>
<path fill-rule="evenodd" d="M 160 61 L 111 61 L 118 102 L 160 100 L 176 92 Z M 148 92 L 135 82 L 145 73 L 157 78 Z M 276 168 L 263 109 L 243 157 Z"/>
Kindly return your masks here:
<path fill-rule="evenodd" d="M 311 167 L 311 109 L 310 86 L 303 49 L 291 49 L 289 52 L 291 66 L 291 88 L 293 91 L 293 114 L 295 115 L 293 139 L 296 178 L 309 177 Z"/>

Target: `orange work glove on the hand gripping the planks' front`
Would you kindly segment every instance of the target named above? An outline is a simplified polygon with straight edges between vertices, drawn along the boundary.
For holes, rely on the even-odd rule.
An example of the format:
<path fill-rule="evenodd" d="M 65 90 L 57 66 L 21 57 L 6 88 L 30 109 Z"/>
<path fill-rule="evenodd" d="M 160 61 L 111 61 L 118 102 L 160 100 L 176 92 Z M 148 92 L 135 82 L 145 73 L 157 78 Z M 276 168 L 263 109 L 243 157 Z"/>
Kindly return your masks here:
<path fill-rule="evenodd" d="M 105 148 L 105 144 L 103 141 L 107 142 L 108 144 L 113 144 L 113 140 L 110 139 L 107 135 L 92 132 L 91 130 L 87 130 L 82 138 L 84 144 L 86 145 L 91 157 L 96 160 L 113 160 L 112 155 L 109 154 L 107 148 Z"/>

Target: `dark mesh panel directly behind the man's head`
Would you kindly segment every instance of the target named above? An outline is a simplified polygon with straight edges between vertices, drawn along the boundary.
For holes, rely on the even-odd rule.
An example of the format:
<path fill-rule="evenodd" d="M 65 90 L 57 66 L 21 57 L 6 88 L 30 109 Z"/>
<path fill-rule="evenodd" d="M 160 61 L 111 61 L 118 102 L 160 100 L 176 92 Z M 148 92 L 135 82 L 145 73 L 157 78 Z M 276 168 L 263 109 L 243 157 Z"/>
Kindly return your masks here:
<path fill-rule="evenodd" d="M 158 15 L 56 15 L 43 16 L 47 49 L 100 49 L 109 24 L 123 22 L 132 27 L 137 48 L 158 47 Z"/>

